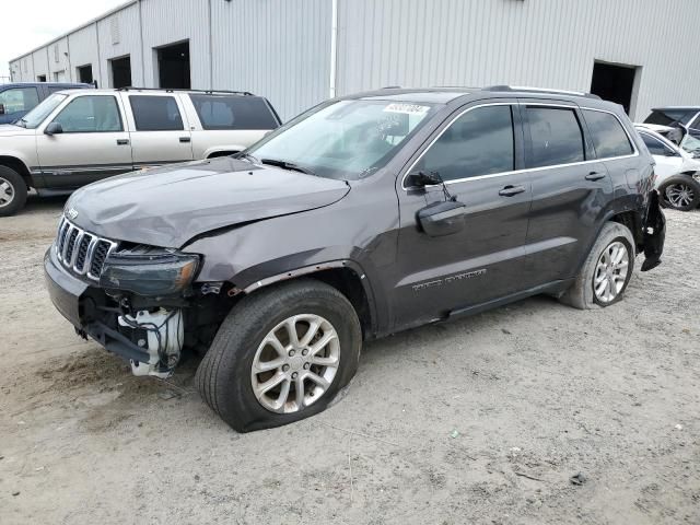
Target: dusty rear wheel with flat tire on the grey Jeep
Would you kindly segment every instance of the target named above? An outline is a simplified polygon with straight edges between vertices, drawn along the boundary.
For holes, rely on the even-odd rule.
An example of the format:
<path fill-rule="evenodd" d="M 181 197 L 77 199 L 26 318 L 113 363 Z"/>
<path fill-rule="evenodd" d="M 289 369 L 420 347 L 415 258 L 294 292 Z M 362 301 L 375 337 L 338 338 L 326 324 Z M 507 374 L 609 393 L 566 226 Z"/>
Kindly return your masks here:
<path fill-rule="evenodd" d="M 608 260 L 610 260 L 610 250 L 612 250 L 616 256 L 619 254 L 615 248 L 623 248 L 626 250 L 627 266 L 623 266 L 621 264 L 622 261 L 620 261 L 617 267 L 614 265 L 610 273 L 608 273 L 600 265 L 605 262 L 603 259 L 604 254 L 607 254 Z M 559 300 L 579 310 L 588 310 L 596 306 L 606 307 L 617 303 L 622 299 L 634 271 L 634 255 L 635 248 L 632 232 L 630 232 L 627 226 L 617 222 L 607 222 L 603 226 L 593 248 L 591 248 L 591 253 L 581 268 L 581 273 L 579 273 L 572 287 L 567 290 Z M 621 271 L 622 267 L 626 268 L 626 273 L 623 275 Z M 614 295 L 603 293 L 603 296 L 600 296 L 596 293 L 596 283 L 599 290 L 600 284 L 609 282 L 609 278 L 600 280 L 604 276 L 610 276 L 614 279 Z M 610 290 L 612 291 L 612 287 Z"/>

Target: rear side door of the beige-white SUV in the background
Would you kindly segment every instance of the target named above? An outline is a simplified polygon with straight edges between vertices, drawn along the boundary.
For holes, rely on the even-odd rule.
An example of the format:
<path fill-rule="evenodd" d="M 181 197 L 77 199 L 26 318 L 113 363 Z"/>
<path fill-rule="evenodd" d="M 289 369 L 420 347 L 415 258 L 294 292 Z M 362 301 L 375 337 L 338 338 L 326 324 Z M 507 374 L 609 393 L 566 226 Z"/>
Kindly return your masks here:
<path fill-rule="evenodd" d="M 122 97 L 137 168 L 192 160 L 191 132 L 178 96 L 124 92 Z"/>

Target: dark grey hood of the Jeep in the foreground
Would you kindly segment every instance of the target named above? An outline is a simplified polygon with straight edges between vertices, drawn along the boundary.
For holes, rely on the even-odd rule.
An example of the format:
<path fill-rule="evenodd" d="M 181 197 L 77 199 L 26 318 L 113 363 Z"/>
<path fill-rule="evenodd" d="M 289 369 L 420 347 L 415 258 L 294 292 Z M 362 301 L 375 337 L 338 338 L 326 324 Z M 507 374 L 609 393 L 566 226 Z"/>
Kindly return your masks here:
<path fill-rule="evenodd" d="M 220 228 L 331 205 L 349 190 L 345 180 L 220 158 L 91 184 L 66 210 L 97 235 L 177 248 Z"/>

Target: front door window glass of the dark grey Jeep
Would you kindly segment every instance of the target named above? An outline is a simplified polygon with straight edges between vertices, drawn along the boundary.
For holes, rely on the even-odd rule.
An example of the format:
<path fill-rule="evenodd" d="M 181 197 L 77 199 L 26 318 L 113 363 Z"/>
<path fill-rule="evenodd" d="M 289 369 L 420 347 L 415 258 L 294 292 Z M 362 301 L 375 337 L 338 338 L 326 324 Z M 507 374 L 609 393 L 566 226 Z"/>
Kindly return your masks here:
<path fill-rule="evenodd" d="M 468 110 L 452 122 L 415 171 L 436 172 L 447 182 L 512 172 L 514 163 L 511 106 L 492 105 Z"/>

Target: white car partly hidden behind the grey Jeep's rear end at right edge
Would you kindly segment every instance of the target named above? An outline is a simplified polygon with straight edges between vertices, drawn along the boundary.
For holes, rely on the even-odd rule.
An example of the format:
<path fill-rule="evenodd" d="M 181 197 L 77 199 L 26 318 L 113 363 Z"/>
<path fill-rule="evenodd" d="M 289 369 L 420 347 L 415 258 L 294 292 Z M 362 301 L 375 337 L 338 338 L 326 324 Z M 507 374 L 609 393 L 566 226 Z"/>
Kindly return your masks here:
<path fill-rule="evenodd" d="M 638 124 L 635 128 L 656 162 L 654 168 L 656 189 L 658 189 L 662 205 L 680 211 L 698 208 L 700 206 L 700 160 L 657 132 L 654 129 L 657 126 Z M 685 140 L 688 139 L 695 140 L 687 135 Z"/>

